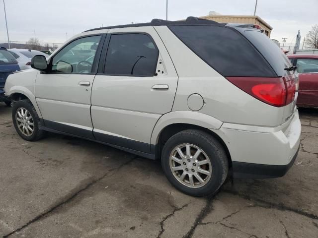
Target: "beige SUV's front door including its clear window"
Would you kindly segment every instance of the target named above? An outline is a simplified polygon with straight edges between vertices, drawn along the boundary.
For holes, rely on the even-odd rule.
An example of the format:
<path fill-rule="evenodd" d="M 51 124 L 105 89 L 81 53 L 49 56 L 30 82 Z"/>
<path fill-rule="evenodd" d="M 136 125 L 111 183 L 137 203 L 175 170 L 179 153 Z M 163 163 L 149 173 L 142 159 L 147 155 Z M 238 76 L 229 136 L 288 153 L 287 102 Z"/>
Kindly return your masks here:
<path fill-rule="evenodd" d="M 35 96 L 46 127 L 93 138 L 90 94 L 102 38 L 94 35 L 70 42 L 50 60 L 50 72 L 38 73 Z"/>

